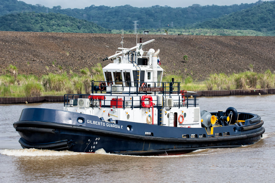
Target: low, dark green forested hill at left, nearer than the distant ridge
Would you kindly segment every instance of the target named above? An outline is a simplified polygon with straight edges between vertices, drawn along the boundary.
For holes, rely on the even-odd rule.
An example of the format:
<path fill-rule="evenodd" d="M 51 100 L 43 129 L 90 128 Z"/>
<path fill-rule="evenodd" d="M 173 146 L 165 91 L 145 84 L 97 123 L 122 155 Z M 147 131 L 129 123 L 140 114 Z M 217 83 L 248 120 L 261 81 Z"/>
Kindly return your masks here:
<path fill-rule="evenodd" d="M 60 13 L 34 12 L 8 14 L 2 16 L 0 18 L 0 30 L 78 33 L 110 33 L 111 31 L 100 27 L 93 22 L 76 19 Z"/>

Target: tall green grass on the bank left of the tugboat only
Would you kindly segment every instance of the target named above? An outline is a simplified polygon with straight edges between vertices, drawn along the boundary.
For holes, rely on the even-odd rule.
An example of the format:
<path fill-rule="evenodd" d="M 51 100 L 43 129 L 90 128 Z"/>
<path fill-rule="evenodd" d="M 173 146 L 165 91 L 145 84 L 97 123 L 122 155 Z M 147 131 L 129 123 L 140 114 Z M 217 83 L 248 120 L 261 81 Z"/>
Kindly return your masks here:
<path fill-rule="evenodd" d="M 91 75 L 96 81 L 103 81 L 101 64 L 90 70 L 80 69 L 79 74 L 62 72 L 49 73 L 37 77 L 34 75 L 16 74 L 15 66 L 10 65 L 5 75 L 0 76 L 1 97 L 35 97 L 42 95 L 86 94 L 90 93 Z"/>

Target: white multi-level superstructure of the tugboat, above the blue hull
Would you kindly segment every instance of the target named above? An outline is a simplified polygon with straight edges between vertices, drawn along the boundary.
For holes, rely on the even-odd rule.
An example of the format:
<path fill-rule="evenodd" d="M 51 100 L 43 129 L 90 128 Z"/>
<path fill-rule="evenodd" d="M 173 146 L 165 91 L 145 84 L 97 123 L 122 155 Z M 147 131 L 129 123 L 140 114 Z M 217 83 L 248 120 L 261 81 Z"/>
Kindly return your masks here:
<path fill-rule="evenodd" d="M 68 95 L 64 110 L 95 115 L 101 120 L 148 123 L 171 127 L 201 127 L 196 97 L 184 95 L 178 82 L 162 82 L 163 69 L 158 65 L 160 50 L 144 51 L 137 43 L 133 48 L 118 48 L 102 70 L 105 81 L 92 81 L 91 94 Z M 135 51 L 134 51 L 135 50 Z M 77 102 L 76 102 L 77 101 Z"/>

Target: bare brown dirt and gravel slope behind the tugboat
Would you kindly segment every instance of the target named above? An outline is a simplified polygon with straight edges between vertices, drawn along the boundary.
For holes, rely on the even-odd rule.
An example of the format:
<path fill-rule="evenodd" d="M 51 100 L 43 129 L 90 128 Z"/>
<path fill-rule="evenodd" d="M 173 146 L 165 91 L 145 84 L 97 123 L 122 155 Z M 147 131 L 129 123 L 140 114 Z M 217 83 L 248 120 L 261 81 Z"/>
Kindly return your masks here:
<path fill-rule="evenodd" d="M 205 79 L 212 73 L 238 73 L 249 70 L 275 72 L 275 37 L 252 36 L 173 36 L 138 35 L 143 41 L 155 39 L 144 50 L 160 48 L 161 66 L 167 74 L 191 75 Z M 124 36 L 124 47 L 135 46 L 136 36 Z M 96 63 L 103 66 L 120 45 L 119 34 L 40 33 L 0 31 L 0 74 L 9 64 L 19 74 L 40 76 L 57 72 L 58 66 L 67 72 L 79 72 Z M 183 56 L 187 55 L 185 61 Z M 53 62 L 56 63 L 53 66 Z M 47 67 L 46 67 L 47 66 Z M 47 69 L 48 68 L 48 69 Z"/>

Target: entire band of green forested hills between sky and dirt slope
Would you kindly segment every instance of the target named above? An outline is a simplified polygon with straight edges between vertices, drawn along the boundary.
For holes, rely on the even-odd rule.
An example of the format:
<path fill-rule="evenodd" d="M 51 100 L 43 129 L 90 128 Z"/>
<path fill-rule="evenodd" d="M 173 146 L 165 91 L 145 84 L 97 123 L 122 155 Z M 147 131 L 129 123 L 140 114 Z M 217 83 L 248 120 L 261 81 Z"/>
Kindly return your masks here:
<path fill-rule="evenodd" d="M 118 33 L 117 30 L 124 29 L 132 34 L 132 21 L 138 20 L 139 33 L 150 30 L 150 34 L 273 36 L 274 12 L 275 1 L 230 6 L 193 4 L 186 8 L 91 5 L 62 9 L 0 0 L 0 30 Z"/>

